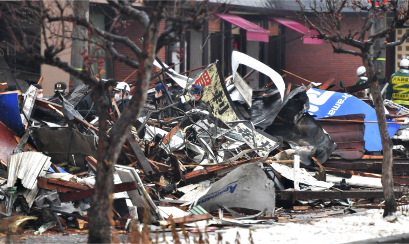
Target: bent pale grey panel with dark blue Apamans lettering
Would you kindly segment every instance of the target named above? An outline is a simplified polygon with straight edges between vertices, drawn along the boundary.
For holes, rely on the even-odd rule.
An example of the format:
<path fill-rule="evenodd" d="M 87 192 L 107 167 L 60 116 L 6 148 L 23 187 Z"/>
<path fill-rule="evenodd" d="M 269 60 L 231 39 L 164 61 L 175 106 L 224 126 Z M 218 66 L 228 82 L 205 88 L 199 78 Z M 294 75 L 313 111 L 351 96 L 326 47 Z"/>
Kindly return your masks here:
<path fill-rule="evenodd" d="M 200 205 L 209 212 L 220 206 L 228 208 L 247 208 L 274 214 L 276 193 L 261 163 L 242 165 L 223 179 L 214 183 L 194 205 Z"/>

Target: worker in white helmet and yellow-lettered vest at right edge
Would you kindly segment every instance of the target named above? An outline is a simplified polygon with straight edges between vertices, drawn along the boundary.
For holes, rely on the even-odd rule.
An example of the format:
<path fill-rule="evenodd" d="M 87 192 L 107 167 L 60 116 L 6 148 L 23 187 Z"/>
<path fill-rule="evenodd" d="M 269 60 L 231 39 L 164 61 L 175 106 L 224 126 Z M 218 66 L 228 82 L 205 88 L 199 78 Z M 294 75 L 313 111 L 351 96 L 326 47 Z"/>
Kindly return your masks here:
<path fill-rule="evenodd" d="M 389 81 L 386 98 L 409 108 L 409 59 L 402 58 L 400 61 L 398 72 Z"/>

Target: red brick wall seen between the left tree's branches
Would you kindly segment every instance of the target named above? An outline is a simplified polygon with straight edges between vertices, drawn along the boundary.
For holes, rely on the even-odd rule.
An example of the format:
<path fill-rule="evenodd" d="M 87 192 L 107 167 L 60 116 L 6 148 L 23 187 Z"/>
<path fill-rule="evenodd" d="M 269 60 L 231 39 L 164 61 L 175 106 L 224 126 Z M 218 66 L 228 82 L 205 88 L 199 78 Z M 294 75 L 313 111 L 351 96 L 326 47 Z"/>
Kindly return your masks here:
<path fill-rule="evenodd" d="M 130 26 L 126 26 L 125 28 L 121 26 L 121 28 L 117 28 L 117 30 L 119 31 L 119 34 L 121 36 L 128 36 L 131 41 L 135 42 L 142 49 L 142 43 L 140 41 L 144 35 L 142 25 L 138 21 L 129 21 L 128 23 L 130 23 Z M 162 20 L 160 27 L 159 27 L 159 34 L 161 34 L 164 30 L 165 30 L 165 20 Z M 121 43 L 116 43 L 115 48 L 118 51 L 118 53 L 131 57 L 134 60 L 138 61 L 137 56 L 134 55 L 133 52 L 125 45 Z M 157 55 L 158 57 L 161 58 L 163 62 L 165 62 L 166 61 L 166 48 L 163 47 L 157 53 Z M 134 68 L 129 67 L 123 62 L 119 62 L 119 61 L 113 62 L 113 78 L 115 78 L 117 81 L 125 80 L 130 74 L 132 74 L 134 70 L 135 70 Z M 158 69 L 154 67 L 154 71 L 158 71 Z M 137 79 L 136 72 L 127 80 L 127 82 L 135 81 L 135 79 Z"/>

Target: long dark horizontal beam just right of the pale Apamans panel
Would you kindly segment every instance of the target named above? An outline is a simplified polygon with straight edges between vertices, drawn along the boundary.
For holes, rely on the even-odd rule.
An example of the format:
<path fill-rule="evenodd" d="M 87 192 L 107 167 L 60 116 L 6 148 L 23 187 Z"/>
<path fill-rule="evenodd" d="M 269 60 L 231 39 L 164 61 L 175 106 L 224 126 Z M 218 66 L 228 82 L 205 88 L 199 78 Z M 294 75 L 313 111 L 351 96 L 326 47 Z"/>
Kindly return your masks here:
<path fill-rule="evenodd" d="M 402 191 L 395 191 L 396 198 L 403 196 Z M 309 200 L 309 199 L 375 199 L 383 198 L 382 190 L 344 190 L 344 191 L 276 191 L 279 200 Z"/>

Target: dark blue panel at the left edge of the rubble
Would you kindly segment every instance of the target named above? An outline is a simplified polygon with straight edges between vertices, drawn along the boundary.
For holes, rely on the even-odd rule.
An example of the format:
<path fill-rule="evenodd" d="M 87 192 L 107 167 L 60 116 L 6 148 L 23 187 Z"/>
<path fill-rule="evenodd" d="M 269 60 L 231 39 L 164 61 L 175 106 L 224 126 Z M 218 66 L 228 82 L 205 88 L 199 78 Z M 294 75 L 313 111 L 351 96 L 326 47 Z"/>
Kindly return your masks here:
<path fill-rule="evenodd" d="M 0 95 L 0 120 L 14 132 L 22 129 L 17 93 Z"/>

